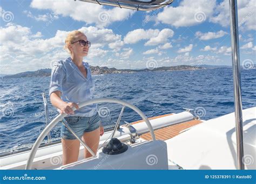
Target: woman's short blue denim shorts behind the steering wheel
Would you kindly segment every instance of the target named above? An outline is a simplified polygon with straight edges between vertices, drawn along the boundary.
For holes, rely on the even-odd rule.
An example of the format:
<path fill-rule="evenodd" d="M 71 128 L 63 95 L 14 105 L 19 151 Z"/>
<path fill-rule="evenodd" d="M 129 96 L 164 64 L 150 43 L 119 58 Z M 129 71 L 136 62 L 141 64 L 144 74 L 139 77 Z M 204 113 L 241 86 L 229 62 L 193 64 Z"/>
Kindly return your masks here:
<path fill-rule="evenodd" d="M 70 116 L 64 118 L 69 126 L 76 132 L 76 135 L 81 138 L 84 132 L 91 132 L 99 128 L 101 120 L 97 112 L 96 115 L 91 117 L 83 116 Z M 60 137 L 63 139 L 76 139 L 76 137 L 69 131 L 68 128 L 62 123 Z"/>

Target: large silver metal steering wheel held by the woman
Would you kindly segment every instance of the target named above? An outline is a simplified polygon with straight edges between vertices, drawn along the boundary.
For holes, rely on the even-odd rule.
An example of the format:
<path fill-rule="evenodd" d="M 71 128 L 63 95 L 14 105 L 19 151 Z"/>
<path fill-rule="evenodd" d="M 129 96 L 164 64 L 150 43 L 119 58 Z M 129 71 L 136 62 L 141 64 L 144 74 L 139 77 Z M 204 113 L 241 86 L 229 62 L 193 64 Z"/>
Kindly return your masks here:
<path fill-rule="evenodd" d="M 131 108 L 132 110 L 134 110 L 135 112 L 137 112 L 137 114 L 142 117 L 142 119 L 146 122 L 147 124 L 147 127 L 149 128 L 150 130 L 150 133 L 151 133 L 151 137 L 153 140 L 156 140 L 156 137 L 154 136 L 154 131 L 153 131 L 153 128 L 152 128 L 152 125 L 150 124 L 150 121 L 149 119 L 147 119 L 147 117 L 144 115 L 144 113 L 139 110 L 137 107 L 135 107 L 134 105 L 128 103 L 128 102 L 125 102 L 125 101 L 122 101 L 122 100 L 118 100 L 118 99 L 114 99 L 114 98 L 97 98 L 97 99 L 92 99 L 92 100 L 89 100 L 89 101 L 86 101 L 86 102 L 82 102 L 82 103 L 79 103 L 78 104 L 78 107 L 79 108 L 82 108 L 82 107 L 85 107 L 86 105 L 90 105 L 90 104 L 93 104 L 93 103 L 103 103 L 103 102 L 109 102 L 109 103 L 118 103 L 118 104 L 122 104 L 123 105 L 123 108 L 120 112 L 120 115 L 118 117 L 118 120 L 117 120 L 117 123 L 114 127 L 114 130 L 113 130 L 113 133 L 112 133 L 112 137 L 114 136 L 114 132 L 117 130 L 117 127 L 118 127 L 118 124 L 120 122 L 120 119 L 123 115 L 123 111 L 124 111 L 124 108 L 125 107 L 129 107 Z M 73 111 L 76 110 L 75 107 L 72 108 Z M 42 141 L 44 140 L 45 136 L 48 135 L 48 133 L 51 131 L 51 129 L 53 129 L 53 127 L 60 121 L 63 120 L 64 117 L 66 117 L 68 114 L 66 114 L 65 112 L 63 114 L 60 114 L 58 116 L 56 116 L 52 121 L 51 123 L 49 123 L 45 129 L 42 131 L 42 133 L 39 135 L 39 137 L 37 138 L 35 144 L 33 145 L 31 151 L 30 151 L 30 154 L 29 154 L 29 159 L 28 161 L 26 162 L 26 167 L 25 169 L 31 169 L 32 167 L 32 163 L 33 163 L 33 159 L 35 158 L 35 155 L 36 155 L 36 152 L 40 146 L 40 144 L 42 143 Z M 95 156 L 95 153 L 91 150 L 91 148 L 89 146 L 87 146 L 84 141 L 82 139 L 80 139 L 76 133 L 74 131 L 72 131 L 72 129 L 70 128 L 70 126 L 68 125 L 68 123 L 65 123 L 65 121 L 63 121 L 63 123 L 65 124 L 65 126 L 73 133 L 73 135 L 80 141 L 80 143 L 93 155 Z M 112 138 L 111 137 L 111 138 Z"/>

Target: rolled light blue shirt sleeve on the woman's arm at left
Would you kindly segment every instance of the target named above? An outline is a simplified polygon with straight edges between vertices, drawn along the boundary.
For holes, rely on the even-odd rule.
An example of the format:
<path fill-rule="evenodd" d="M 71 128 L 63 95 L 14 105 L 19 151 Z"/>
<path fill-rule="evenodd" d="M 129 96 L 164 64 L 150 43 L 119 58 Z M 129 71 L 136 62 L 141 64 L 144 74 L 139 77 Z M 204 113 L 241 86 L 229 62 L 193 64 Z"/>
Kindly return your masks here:
<path fill-rule="evenodd" d="M 62 89 L 62 81 L 65 77 L 65 70 L 64 66 L 62 65 L 61 61 L 57 61 L 51 71 L 51 82 L 49 87 L 49 96 L 54 91 L 60 91 L 60 93 L 63 93 Z"/>

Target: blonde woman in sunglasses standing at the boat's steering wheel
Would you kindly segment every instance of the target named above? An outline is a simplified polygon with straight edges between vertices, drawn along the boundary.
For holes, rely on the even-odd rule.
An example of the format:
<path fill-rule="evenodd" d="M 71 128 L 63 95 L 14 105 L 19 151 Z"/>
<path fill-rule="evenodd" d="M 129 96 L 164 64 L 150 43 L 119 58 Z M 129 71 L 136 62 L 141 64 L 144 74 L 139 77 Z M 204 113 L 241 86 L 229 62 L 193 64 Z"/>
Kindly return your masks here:
<path fill-rule="evenodd" d="M 91 76 L 91 69 L 83 57 L 87 56 L 90 41 L 80 31 L 72 31 L 65 40 L 64 48 L 70 53 L 65 61 L 57 61 L 52 68 L 49 95 L 51 103 L 58 108 L 60 114 L 68 114 L 66 122 L 79 137 L 97 152 L 99 137 L 103 135 L 104 128 L 97 112 L 97 105 L 91 104 L 78 109 L 77 103 L 91 100 L 95 83 Z M 72 107 L 77 110 L 74 112 Z M 78 160 L 80 142 L 62 124 L 61 128 L 63 165 Z M 92 155 L 84 149 L 85 158 Z"/>

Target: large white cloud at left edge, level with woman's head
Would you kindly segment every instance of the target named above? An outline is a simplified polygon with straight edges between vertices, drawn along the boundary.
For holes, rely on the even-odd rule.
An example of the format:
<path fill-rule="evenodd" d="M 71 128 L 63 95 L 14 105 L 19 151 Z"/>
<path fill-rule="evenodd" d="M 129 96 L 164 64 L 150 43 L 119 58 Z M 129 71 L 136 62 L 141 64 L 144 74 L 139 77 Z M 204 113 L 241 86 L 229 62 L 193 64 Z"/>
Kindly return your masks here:
<path fill-rule="evenodd" d="M 29 27 L 6 24 L 0 27 L 0 42 L 3 45 L 6 54 L 15 57 L 19 55 L 36 55 L 53 51 L 55 48 L 62 48 L 68 32 L 57 31 L 56 35 L 49 39 L 39 39 L 42 37 L 41 32 L 32 34 Z"/>

